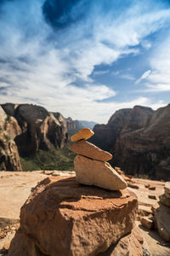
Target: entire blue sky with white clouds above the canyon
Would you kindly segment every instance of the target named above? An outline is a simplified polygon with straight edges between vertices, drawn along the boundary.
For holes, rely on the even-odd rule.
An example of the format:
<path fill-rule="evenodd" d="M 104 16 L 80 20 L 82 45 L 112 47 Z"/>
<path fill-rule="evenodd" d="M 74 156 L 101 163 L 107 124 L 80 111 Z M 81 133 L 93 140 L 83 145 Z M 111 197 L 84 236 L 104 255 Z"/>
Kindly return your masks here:
<path fill-rule="evenodd" d="M 170 1 L 0 1 L 1 103 L 106 123 L 169 96 Z"/>

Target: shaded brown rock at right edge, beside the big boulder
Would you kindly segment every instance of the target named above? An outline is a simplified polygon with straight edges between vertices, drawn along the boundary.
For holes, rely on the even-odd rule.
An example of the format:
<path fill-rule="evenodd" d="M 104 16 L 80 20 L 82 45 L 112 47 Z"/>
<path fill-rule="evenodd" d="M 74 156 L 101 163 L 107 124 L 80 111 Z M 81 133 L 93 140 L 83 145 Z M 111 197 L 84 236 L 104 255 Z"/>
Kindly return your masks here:
<path fill-rule="evenodd" d="M 170 241 L 170 207 L 160 204 L 154 209 L 154 216 L 160 236 L 165 241 Z"/>

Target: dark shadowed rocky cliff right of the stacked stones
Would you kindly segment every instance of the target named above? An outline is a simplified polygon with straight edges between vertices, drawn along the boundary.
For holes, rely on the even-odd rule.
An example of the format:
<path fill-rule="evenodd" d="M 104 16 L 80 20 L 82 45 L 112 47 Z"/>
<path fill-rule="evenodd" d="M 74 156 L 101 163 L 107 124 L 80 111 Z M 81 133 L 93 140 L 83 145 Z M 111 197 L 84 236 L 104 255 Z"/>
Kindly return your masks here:
<path fill-rule="evenodd" d="M 170 104 L 153 111 L 135 106 L 121 109 L 107 125 L 95 125 L 90 140 L 114 155 L 113 165 L 127 174 L 170 177 Z"/>

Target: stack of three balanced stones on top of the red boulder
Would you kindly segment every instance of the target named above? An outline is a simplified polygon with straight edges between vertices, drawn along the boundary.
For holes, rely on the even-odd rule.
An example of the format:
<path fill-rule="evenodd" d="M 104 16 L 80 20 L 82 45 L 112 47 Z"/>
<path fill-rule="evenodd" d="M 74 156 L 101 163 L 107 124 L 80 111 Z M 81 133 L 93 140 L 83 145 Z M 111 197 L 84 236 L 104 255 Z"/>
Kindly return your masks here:
<path fill-rule="evenodd" d="M 107 162 L 111 160 L 112 154 L 87 142 L 93 135 L 94 131 L 82 128 L 71 137 L 71 141 L 76 142 L 70 149 L 77 154 L 74 160 L 77 182 L 103 189 L 126 189 L 124 178 Z"/>

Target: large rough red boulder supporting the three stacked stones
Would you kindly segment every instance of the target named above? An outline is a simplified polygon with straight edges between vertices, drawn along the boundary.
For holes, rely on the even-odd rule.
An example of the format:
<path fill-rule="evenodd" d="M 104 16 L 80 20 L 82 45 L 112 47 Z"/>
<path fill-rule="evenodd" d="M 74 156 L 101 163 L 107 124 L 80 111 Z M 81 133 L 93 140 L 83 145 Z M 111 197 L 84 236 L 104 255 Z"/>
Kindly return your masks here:
<path fill-rule="evenodd" d="M 132 192 L 108 191 L 49 177 L 21 207 L 20 229 L 8 256 L 93 256 L 133 229 L 138 201 Z"/>

